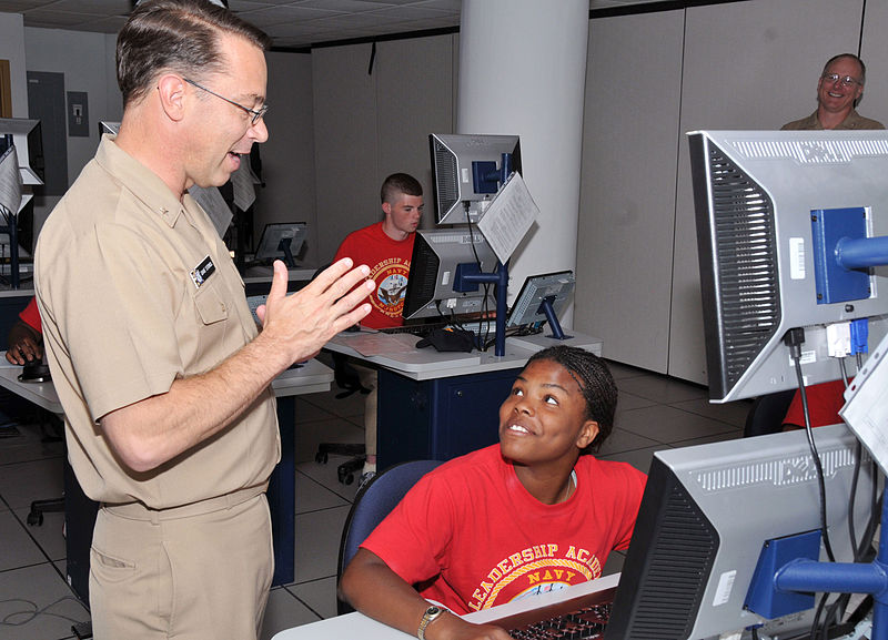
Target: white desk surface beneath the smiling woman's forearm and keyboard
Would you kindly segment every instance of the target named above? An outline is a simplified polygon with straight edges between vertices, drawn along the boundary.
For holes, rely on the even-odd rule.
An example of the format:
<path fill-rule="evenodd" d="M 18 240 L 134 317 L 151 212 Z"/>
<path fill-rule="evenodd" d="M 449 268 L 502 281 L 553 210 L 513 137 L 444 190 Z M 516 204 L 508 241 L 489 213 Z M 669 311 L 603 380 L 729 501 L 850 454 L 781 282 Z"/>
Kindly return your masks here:
<path fill-rule="evenodd" d="M 583 582 L 576 587 L 562 589 L 561 591 L 549 591 L 548 593 L 523 598 L 492 609 L 468 613 L 464 618 L 470 622 L 492 622 L 515 613 L 563 602 L 577 596 L 604 591 L 616 587 L 618 582 L 619 573 L 613 573 L 597 580 Z M 406 638 L 415 638 L 415 636 L 410 636 L 382 622 L 376 622 L 362 613 L 349 613 L 286 629 L 276 633 L 272 640 L 315 640 L 317 638 L 324 638 L 324 640 L 352 640 L 353 638 L 360 638 L 361 640 L 405 640 Z"/>

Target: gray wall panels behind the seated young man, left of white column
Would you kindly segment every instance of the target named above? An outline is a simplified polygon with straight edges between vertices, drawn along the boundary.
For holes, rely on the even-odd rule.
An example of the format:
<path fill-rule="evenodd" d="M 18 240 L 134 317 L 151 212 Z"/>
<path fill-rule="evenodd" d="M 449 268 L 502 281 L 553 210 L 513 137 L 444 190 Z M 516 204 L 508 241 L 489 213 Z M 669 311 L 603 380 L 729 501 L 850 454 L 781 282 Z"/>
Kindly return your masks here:
<path fill-rule="evenodd" d="M 350 232 L 381 220 L 380 185 L 404 171 L 432 220 L 428 134 L 453 130 L 455 35 L 312 52 L 314 158 L 322 263 Z"/>

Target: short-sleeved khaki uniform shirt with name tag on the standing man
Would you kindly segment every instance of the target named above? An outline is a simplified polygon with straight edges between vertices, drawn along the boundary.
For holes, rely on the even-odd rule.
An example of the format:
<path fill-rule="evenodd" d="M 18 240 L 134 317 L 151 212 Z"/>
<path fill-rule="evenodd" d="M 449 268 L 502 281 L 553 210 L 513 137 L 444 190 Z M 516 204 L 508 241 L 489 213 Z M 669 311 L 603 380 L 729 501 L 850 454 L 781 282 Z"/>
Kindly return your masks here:
<path fill-rule="evenodd" d="M 90 498 L 164 509 L 268 481 L 281 451 L 271 388 L 151 471 L 123 468 L 98 424 L 256 335 L 243 281 L 190 195 L 180 202 L 104 136 L 40 233 L 36 287 L 68 455 Z"/>

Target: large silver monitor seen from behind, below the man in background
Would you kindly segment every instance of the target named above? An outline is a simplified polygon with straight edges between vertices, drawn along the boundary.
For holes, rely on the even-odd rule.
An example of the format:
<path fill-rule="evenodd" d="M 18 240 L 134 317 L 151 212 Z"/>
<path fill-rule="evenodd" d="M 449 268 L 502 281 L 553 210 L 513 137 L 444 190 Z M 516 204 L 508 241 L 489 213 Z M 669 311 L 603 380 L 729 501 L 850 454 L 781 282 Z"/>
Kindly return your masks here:
<path fill-rule="evenodd" d="M 828 325 L 888 332 L 888 271 L 837 252 L 888 235 L 888 132 L 688 135 L 710 399 L 797 387 L 784 336 L 798 327 L 806 385 L 839 379 Z"/>

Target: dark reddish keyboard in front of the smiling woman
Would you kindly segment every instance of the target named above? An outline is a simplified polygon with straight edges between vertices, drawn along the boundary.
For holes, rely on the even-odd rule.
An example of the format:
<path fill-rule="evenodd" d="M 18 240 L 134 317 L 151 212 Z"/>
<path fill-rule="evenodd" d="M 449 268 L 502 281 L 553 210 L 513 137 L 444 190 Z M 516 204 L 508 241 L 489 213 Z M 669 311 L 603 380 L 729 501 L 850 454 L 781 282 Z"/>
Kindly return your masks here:
<path fill-rule="evenodd" d="M 616 587 L 585 593 L 491 622 L 515 640 L 601 640 L 615 592 Z"/>

